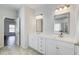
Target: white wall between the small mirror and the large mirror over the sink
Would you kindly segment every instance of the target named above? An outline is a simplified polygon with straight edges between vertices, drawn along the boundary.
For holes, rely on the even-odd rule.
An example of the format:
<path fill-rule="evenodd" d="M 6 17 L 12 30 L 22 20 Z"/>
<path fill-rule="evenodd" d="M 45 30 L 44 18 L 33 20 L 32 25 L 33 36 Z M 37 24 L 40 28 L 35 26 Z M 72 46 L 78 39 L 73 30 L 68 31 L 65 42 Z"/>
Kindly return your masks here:
<path fill-rule="evenodd" d="M 36 15 L 43 13 L 43 32 L 53 34 L 54 10 L 56 5 L 45 5 L 41 9 L 36 10 Z"/>

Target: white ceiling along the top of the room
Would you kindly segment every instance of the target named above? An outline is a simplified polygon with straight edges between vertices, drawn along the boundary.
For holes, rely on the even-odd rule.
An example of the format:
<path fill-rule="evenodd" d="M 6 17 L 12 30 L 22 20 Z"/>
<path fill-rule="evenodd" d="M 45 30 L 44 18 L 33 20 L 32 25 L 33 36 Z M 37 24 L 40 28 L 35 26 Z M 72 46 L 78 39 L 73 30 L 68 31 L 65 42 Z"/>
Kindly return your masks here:
<path fill-rule="evenodd" d="M 18 10 L 22 6 L 27 6 L 32 9 L 35 9 L 35 10 L 40 10 L 42 8 L 43 9 L 44 8 L 53 8 L 56 5 L 54 5 L 54 4 L 0 4 L 0 7 L 10 8 L 13 10 Z"/>

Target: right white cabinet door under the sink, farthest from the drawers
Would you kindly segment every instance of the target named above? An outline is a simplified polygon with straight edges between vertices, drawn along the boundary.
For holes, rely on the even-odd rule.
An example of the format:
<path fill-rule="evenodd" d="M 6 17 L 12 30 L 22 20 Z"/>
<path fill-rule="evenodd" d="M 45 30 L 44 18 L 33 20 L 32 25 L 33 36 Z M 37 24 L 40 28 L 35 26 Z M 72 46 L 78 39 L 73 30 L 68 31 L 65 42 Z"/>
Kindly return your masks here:
<path fill-rule="evenodd" d="M 58 42 L 58 55 L 74 55 L 74 44 Z"/>

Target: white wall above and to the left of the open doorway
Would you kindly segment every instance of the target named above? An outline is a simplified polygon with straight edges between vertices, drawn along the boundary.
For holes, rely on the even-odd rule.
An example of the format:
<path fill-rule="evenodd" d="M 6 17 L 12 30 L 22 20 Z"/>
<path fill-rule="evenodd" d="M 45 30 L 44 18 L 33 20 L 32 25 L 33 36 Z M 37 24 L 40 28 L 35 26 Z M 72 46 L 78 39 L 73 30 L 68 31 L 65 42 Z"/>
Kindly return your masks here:
<path fill-rule="evenodd" d="M 10 8 L 0 7 L 0 47 L 4 46 L 4 19 L 5 17 L 16 19 L 17 13 Z"/>

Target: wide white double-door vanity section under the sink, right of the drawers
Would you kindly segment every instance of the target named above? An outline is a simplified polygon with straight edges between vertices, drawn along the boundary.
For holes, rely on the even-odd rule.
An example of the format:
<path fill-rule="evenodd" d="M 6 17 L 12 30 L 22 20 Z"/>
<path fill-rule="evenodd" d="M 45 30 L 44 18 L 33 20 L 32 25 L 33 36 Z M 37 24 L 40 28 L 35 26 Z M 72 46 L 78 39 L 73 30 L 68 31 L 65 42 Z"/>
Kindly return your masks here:
<path fill-rule="evenodd" d="M 74 55 L 74 44 L 46 39 L 47 55 Z"/>

